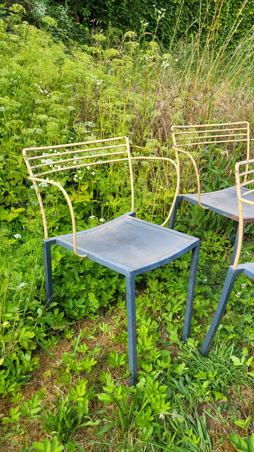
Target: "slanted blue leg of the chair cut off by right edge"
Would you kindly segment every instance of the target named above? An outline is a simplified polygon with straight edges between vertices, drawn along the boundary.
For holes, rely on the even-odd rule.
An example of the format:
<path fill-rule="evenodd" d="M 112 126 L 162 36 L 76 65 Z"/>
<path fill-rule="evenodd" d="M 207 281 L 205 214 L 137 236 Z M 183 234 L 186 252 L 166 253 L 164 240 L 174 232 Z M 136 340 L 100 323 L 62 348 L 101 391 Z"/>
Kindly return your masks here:
<path fill-rule="evenodd" d="M 212 319 L 212 323 L 210 325 L 210 328 L 206 334 L 205 340 L 204 340 L 203 345 L 200 350 L 200 353 L 203 356 L 205 356 L 208 353 L 208 351 L 211 347 L 211 343 L 213 341 L 213 338 L 216 334 L 220 321 L 223 318 L 225 309 L 227 307 L 229 297 L 230 297 L 231 291 L 232 291 L 234 283 L 235 283 L 236 275 L 241 272 L 242 272 L 242 270 L 233 268 L 232 266 L 229 267 L 229 269 L 228 269 L 228 273 L 227 273 L 225 283 L 223 286 L 223 291 L 221 292 L 219 302 L 218 302 L 218 305 L 215 310 L 215 314 Z"/>

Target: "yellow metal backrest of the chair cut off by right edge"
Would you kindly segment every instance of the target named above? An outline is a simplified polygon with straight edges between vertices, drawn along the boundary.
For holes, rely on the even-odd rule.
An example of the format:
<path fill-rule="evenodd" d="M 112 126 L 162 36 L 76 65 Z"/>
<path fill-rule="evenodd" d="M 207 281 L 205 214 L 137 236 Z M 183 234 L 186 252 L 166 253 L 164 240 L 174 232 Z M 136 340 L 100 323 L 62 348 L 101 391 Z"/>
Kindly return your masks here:
<path fill-rule="evenodd" d="M 236 191 L 237 191 L 237 199 L 238 199 L 238 206 L 239 206 L 239 239 L 238 239 L 238 246 L 236 251 L 236 257 L 235 262 L 233 264 L 233 267 L 236 268 L 241 246 L 242 246 L 242 239 L 243 239 L 243 208 L 242 203 L 249 204 L 251 206 L 254 206 L 254 202 L 247 199 L 247 197 L 254 193 L 254 189 L 249 189 L 247 191 L 243 191 L 243 187 L 247 187 L 247 185 L 254 184 L 254 179 L 251 177 L 251 175 L 254 175 L 254 169 L 249 170 L 249 165 L 253 165 L 254 160 L 244 160 L 242 162 L 237 162 L 235 165 L 235 175 L 236 175 Z M 240 173 L 240 166 L 245 166 L 245 171 Z M 249 177 L 249 180 L 246 181 L 246 178 Z M 241 178 L 243 179 L 243 182 L 241 182 Z M 253 207 L 254 209 L 254 207 Z"/>

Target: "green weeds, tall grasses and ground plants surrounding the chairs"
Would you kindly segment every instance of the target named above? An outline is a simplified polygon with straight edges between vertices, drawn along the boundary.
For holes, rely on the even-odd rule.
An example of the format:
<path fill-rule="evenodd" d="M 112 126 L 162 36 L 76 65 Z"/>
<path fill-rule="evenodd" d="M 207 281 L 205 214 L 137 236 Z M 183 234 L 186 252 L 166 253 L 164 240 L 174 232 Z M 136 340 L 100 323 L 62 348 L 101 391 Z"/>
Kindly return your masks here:
<path fill-rule="evenodd" d="M 212 19 L 197 16 L 192 39 L 179 40 L 176 27 L 163 47 L 157 32 L 166 15 L 155 6 L 153 35 L 144 21 L 137 34 L 93 21 L 80 27 L 79 43 L 66 9 L 54 18 L 25 7 L 1 4 L 0 20 L 0 450 L 253 450 L 254 297 L 243 275 L 209 355 L 199 354 L 230 262 L 232 224 L 194 206 L 178 215 L 176 229 L 201 239 L 186 345 L 189 257 L 137 278 L 139 383 L 130 388 L 120 275 L 54 248 L 54 312 L 45 310 L 41 214 L 21 154 L 127 135 L 136 155 L 174 158 L 172 124 L 249 120 L 252 129 L 252 29 L 236 44 L 236 14 L 221 40 L 218 6 Z M 229 186 L 242 156 L 242 147 L 229 160 L 223 148 L 203 152 L 203 186 Z M 185 166 L 182 190 L 195 190 L 191 176 Z M 126 180 L 120 166 L 70 172 L 79 230 L 129 209 Z M 137 167 L 138 215 L 162 221 L 174 183 L 155 166 Z M 60 195 L 40 189 L 50 234 L 70 231 Z M 246 228 L 246 261 L 253 260 L 252 231 Z"/>

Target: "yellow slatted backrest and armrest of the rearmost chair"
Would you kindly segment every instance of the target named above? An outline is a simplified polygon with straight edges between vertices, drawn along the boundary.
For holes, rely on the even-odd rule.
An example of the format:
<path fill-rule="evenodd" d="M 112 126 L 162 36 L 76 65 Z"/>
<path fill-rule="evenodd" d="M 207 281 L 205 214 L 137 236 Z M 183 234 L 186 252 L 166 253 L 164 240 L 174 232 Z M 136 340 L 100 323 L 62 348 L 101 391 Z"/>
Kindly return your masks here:
<path fill-rule="evenodd" d="M 176 152 L 176 161 L 180 170 L 179 152 L 188 156 L 192 161 L 198 186 L 199 205 L 200 200 L 200 179 L 199 170 L 195 160 L 195 152 L 197 150 L 207 149 L 209 145 L 221 146 L 229 158 L 228 145 L 246 144 L 246 159 L 249 159 L 249 123 L 221 123 L 221 124 L 200 124 L 191 126 L 172 126 L 173 149 Z M 247 169 L 247 168 L 246 168 Z M 246 180 L 246 179 L 245 179 Z"/>

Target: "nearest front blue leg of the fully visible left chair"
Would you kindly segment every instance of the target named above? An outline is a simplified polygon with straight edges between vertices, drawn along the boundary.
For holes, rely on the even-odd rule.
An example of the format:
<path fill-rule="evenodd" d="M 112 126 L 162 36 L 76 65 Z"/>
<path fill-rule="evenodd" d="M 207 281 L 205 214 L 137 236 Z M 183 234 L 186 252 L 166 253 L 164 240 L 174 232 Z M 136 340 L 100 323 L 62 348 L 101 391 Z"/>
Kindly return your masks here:
<path fill-rule="evenodd" d="M 135 276 L 126 276 L 126 303 L 130 386 L 134 386 L 138 381 Z"/>

